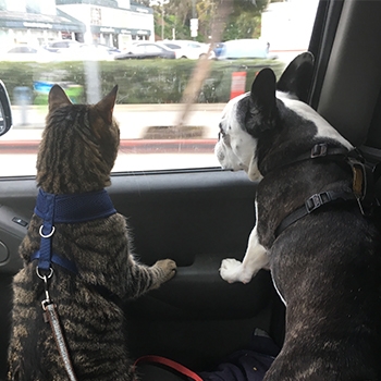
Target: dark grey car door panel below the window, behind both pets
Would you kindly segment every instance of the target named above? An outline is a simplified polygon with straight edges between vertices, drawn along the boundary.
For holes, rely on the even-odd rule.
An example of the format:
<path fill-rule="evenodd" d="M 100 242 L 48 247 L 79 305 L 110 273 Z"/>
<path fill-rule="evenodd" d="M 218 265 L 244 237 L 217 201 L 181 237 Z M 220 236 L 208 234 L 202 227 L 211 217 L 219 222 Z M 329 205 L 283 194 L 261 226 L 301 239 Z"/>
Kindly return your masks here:
<path fill-rule="evenodd" d="M 260 327 L 282 340 L 283 308 L 270 274 L 260 271 L 247 285 L 228 284 L 219 275 L 223 258 L 242 259 L 255 223 L 256 183 L 245 173 L 221 170 L 114 174 L 108 189 L 126 216 L 135 253 L 147 265 L 160 258 L 177 262 L 176 276 L 138 300 L 126 304 L 132 356 L 159 354 L 202 368 L 248 345 Z M 12 195 L 12 197 L 10 197 Z M 0 266 L 3 288 L 20 268 L 17 246 L 26 230 L 37 188 L 34 179 L 3 180 L 0 186 L 0 242 L 10 251 Z M 9 324 L 9 308 L 0 312 Z M 7 334 L 4 330 L 2 334 Z M 5 371 L 1 341 L 1 371 Z M 0 377 L 1 379 L 1 377 Z"/>

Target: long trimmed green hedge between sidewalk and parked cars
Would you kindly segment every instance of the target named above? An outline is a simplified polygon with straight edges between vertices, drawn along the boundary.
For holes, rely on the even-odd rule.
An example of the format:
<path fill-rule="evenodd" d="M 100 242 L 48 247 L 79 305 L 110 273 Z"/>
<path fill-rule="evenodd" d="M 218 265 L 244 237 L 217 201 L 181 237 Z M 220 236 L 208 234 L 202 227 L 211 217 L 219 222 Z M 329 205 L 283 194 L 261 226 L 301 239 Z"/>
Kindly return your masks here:
<path fill-rule="evenodd" d="M 196 61 L 192 60 L 125 60 L 100 62 L 0 62 L 0 79 L 5 84 L 11 101 L 14 102 L 14 88 L 34 88 L 36 82 L 59 83 L 63 87 L 82 86 L 74 89 L 72 99 L 83 102 L 86 99 L 86 70 L 98 73 L 101 93 L 105 95 L 118 84 L 118 103 L 177 103 L 189 81 Z M 213 61 L 209 77 L 205 81 L 199 102 L 226 102 L 230 99 L 233 72 L 247 73 L 246 90 L 249 90 L 256 73 L 270 66 L 276 76 L 284 69 L 279 61 L 238 60 Z M 94 77 L 90 79 L 95 81 Z M 48 90 L 33 91 L 33 103 L 46 103 Z"/>

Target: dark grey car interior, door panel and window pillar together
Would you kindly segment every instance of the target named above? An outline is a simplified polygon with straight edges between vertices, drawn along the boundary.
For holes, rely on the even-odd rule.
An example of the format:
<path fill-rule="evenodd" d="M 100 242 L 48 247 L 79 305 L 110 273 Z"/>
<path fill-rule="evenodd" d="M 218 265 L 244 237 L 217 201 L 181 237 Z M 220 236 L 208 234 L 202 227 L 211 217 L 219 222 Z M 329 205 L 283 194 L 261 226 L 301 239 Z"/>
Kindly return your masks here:
<path fill-rule="evenodd" d="M 374 162 L 381 160 L 380 17 L 380 1 L 321 0 L 309 46 L 316 58 L 309 103 Z M 282 345 L 285 307 L 270 273 L 261 270 L 248 284 L 219 274 L 222 259 L 245 254 L 257 183 L 220 168 L 121 172 L 111 180 L 108 192 L 127 218 L 140 261 L 177 263 L 173 280 L 124 307 L 132 358 L 160 355 L 201 371 L 247 347 L 256 328 Z M 0 177 L 0 380 L 11 282 L 22 266 L 17 247 L 37 192 L 34 176 Z M 182 378 L 152 367 L 146 379 Z"/>

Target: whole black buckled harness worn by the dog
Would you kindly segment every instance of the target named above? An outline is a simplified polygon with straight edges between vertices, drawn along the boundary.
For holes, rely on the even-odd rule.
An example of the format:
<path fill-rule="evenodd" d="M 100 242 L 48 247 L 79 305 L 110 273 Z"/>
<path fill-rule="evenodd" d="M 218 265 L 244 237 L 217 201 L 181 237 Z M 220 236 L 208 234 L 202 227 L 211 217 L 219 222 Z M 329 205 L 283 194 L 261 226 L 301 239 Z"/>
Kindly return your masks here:
<path fill-rule="evenodd" d="M 356 200 L 362 216 L 366 217 L 373 212 L 373 208 L 378 204 L 373 189 L 376 167 L 367 164 L 358 150 L 348 151 L 344 147 L 330 147 L 327 143 L 317 144 L 310 152 L 300 155 L 282 167 L 309 159 L 330 159 L 348 164 L 353 172 L 352 192 L 330 189 L 310 196 L 303 206 L 282 220 L 275 229 L 275 238 L 294 222 L 327 204 Z"/>

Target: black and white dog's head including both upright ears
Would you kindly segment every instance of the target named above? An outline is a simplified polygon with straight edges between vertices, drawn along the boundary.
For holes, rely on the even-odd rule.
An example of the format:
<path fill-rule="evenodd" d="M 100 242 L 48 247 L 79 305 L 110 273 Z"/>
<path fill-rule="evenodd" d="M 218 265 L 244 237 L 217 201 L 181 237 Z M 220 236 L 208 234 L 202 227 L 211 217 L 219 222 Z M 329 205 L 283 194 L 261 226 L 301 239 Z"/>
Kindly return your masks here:
<path fill-rule="evenodd" d="M 286 107 L 292 109 L 292 100 L 306 102 L 312 63 L 314 57 L 309 52 L 299 54 L 288 64 L 278 83 L 271 69 L 262 69 L 256 75 L 249 93 L 228 102 L 214 149 L 223 169 L 244 170 L 251 181 L 262 179 L 258 169 L 258 139 L 276 127 L 279 95 L 288 100 Z M 299 106 L 296 105 L 296 108 Z"/>

